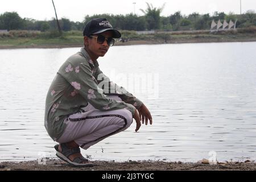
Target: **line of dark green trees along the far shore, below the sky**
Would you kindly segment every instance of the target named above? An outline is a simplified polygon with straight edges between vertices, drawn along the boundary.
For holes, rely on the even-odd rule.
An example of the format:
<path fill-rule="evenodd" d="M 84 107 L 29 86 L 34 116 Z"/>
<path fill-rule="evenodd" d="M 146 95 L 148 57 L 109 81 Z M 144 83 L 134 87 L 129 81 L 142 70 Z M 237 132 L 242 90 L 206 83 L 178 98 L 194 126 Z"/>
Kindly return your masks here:
<path fill-rule="evenodd" d="M 247 11 L 245 14 L 225 14 L 224 12 L 215 12 L 210 14 L 192 13 L 183 15 L 177 11 L 170 16 L 161 16 L 164 5 L 160 8 L 153 7 L 147 3 L 147 9 L 141 10 L 142 16 L 136 14 L 113 15 L 113 14 L 96 14 L 93 16 L 86 15 L 82 22 L 73 22 L 67 18 L 59 20 L 61 30 L 82 31 L 85 24 L 93 18 L 105 17 L 112 23 L 113 27 L 119 30 L 163 30 L 163 31 L 178 31 L 178 30 L 209 30 L 212 20 L 230 19 L 237 20 L 237 27 L 256 26 L 256 13 L 253 10 Z M 38 30 L 51 31 L 56 30 L 56 19 L 52 20 L 35 20 L 30 18 L 21 18 L 16 12 L 5 12 L 0 15 L 0 30 Z"/>

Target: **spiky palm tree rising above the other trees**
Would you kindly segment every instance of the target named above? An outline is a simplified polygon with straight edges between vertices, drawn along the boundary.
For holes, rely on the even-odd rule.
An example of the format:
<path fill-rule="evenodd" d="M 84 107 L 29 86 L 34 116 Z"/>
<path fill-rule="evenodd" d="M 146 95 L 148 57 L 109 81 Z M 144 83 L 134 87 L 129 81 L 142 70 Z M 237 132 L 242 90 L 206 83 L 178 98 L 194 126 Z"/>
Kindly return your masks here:
<path fill-rule="evenodd" d="M 163 6 L 158 9 L 156 7 L 153 7 L 152 4 L 149 4 L 148 2 L 146 3 L 147 3 L 147 9 L 146 10 L 140 9 L 140 10 L 146 16 L 148 29 L 152 30 L 152 29 L 160 28 L 160 14 L 162 13 L 166 3 L 164 3 Z"/>

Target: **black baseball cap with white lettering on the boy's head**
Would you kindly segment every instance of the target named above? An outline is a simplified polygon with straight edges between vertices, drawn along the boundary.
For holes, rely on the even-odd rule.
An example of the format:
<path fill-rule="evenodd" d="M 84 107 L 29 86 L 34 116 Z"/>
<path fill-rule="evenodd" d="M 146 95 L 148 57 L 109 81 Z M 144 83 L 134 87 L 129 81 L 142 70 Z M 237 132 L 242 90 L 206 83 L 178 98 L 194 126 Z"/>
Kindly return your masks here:
<path fill-rule="evenodd" d="M 113 38 L 121 38 L 121 33 L 118 30 L 115 30 L 106 18 L 95 18 L 90 20 L 85 25 L 83 34 L 84 36 L 90 36 L 108 30 L 113 32 Z"/>

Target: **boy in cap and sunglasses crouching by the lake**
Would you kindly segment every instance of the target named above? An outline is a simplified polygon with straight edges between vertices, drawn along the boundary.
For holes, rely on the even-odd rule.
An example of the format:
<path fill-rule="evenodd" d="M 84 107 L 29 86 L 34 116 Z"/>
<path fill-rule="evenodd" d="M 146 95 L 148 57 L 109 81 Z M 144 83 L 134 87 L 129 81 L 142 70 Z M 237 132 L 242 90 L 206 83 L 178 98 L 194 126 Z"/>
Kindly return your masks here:
<path fill-rule="evenodd" d="M 44 126 L 58 142 L 56 155 L 73 166 L 93 166 L 81 155 L 102 139 L 126 130 L 133 118 L 136 129 L 152 124 L 150 111 L 138 98 L 109 80 L 98 67 L 114 38 L 121 34 L 105 18 L 84 28 L 84 47 L 60 67 L 48 90 Z"/>

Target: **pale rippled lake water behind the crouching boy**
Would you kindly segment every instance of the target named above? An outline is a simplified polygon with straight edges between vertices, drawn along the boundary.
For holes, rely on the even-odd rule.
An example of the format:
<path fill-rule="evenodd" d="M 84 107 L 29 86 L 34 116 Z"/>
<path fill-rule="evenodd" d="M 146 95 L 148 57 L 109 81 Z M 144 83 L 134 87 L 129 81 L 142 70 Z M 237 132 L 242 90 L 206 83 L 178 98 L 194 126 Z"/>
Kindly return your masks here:
<path fill-rule="evenodd" d="M 0 162 L 56 158 L 44 103 L 56 71 L 79 50 L 0 50 Z M 255 50 L 256 42 L 110 48 L 98 59 L 101 70 L 135 92 L 154 123 L 135 133 L 134 122 L 82 154 L 115 161 L 255 160 Z M 148 85 L 136 91 L 138 73 Z"/>

